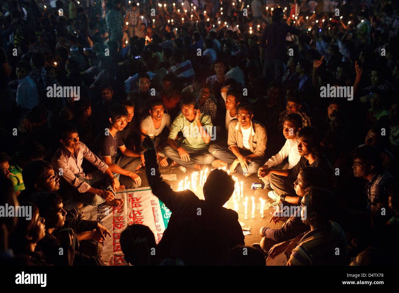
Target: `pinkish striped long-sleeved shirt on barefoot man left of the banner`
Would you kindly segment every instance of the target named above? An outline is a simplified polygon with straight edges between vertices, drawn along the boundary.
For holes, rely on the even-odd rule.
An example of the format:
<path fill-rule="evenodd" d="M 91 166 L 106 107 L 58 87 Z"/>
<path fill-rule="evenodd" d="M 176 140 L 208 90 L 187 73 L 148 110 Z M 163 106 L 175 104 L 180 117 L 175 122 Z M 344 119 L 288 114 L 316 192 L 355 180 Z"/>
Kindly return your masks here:
<path fill-rule="evenodd" d="M 108 169 L 108 165 L 90 151 L 83 142 L 79 142 L 79 147 L 75 149 L 75 154 L 71 153 L 65 146 L 62 146 L 57 149 L 51 158 L 51 164 L 54 166 L 54 169 L 59 170 L 59 168 L 62 168 L 63 175 L 61 177 L 80 193 L 87 192 L 91 186 L 87 182 L 82 182 L 75 174 L 79 174 L 85 179 L 93 178 L 91 174 L 86 175 L 83 172 L 83 158 L 103 171 L 103 173 Z"/>

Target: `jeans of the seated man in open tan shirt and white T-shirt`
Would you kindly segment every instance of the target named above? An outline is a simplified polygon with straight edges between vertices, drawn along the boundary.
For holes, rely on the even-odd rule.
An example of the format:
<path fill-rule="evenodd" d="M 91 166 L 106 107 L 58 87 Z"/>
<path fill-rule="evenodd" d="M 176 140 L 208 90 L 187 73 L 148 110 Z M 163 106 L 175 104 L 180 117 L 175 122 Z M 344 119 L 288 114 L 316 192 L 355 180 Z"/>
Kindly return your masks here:
<path fill-rule="evenodd" d="M 215 158 L 222 160 L 223 162 L 226 162 L 229 165 L 231 165 L 231 163 L 233 163 L 233 161 L 237 159 L 237 157 L 235 156 L 235 154 L 233 154 L 231 150 L 229 150 L 227 147 L 218 146 L 217 144 L 211 144 L 211 146 L 209 146 L 209 152 Z M 251 151 L 240 149 L 240 153 L 245 157 L 247 155 L 250 155 Z M 262 166 L 262 160 L 250 161 L 248 165 L 247 174 L 258 173 L 258 169 L 261 166 Z M 241 164 L 237 165 L 236 170 L 237 172 L 244 174 L 244 171 L 241 168 Z"/>

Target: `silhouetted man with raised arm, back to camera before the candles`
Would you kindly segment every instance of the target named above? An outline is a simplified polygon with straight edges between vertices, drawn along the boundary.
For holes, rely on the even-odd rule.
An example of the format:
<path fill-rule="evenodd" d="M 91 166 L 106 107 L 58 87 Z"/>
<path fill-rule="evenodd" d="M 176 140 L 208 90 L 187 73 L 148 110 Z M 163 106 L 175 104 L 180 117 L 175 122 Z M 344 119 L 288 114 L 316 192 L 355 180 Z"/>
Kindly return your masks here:
<path fill-rule="evenodd" d="M 152 141 L 145 138 L 144 144 L 146 175 L 152 193 L 172 212 L 156 248 L 158 258 L 180 258 L 186 265 L 225 264 L 229 250 L 244 245 L 237 212 L 223 207 L 234 191 L 231 176 L 223 170 L 211 171 L 203 186 L 205 200 L 190 190 L 174 192 L 160 177 Z M 153 168 L 155 175 L 151 175 Z"/>

